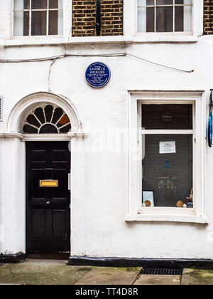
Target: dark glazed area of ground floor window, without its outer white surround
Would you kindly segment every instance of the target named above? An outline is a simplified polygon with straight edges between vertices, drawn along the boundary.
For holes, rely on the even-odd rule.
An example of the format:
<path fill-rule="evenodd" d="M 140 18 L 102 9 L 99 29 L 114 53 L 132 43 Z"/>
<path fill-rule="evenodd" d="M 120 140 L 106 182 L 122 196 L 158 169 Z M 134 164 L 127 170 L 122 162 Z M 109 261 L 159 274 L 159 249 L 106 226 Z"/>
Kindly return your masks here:
<path fill-rule="evenodd" d="M 142 206 L 193 207 L 192 105 L 143 105 Z"/>

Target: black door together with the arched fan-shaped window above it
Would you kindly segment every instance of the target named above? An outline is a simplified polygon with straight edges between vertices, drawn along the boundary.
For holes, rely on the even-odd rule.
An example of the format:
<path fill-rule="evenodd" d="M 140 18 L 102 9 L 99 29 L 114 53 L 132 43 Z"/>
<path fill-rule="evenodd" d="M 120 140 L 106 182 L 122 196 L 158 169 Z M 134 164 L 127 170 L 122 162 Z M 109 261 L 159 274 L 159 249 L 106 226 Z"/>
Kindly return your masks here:
<path fill-rule="evenodd" d="M 23 134 L 64 134 L 70 118 L 51 103 L 34 107 Z M 26 142 L 26 251 L 70 251 L 70 150 L 68 141 Z"/>

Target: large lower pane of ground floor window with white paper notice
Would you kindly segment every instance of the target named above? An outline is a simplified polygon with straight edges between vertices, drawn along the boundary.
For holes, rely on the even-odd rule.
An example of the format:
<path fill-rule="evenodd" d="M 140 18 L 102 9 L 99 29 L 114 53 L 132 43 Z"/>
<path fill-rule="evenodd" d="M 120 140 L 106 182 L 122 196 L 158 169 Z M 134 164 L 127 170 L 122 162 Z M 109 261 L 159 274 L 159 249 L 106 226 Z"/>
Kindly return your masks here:
<path fill-rule="evenodd" d="M 154 192 L 154 206 L 192 208 L 192 135 L 146 135 L 143 140 L 143 191 Z"/>

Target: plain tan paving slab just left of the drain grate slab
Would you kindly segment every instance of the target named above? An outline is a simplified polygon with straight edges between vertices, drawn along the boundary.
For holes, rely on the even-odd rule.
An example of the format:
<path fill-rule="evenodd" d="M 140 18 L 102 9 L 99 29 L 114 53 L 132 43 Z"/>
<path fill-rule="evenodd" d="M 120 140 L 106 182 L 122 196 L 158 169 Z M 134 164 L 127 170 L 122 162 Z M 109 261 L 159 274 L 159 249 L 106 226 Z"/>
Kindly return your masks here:
<path fill-rule="evenodd" d="M 132 285 L 141 268 L 92 268 L 75 285 Z"/>

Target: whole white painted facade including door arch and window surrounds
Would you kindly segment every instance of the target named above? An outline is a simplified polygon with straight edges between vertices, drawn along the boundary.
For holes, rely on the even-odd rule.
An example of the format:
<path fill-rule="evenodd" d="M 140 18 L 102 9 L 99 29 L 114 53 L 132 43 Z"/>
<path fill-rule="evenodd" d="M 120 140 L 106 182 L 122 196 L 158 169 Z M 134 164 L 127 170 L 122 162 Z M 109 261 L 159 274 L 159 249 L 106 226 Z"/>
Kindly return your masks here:
<path fill-rule="evenodd" d="M 26 252 L 26 141 L 70 140 L 71 256 L 213 259 L 213 152 L 205 139 L 213 36 L 202 36 L 202 0 L 194 2 L 191 35 L 137 35 L 135 3 L 124 0 L 124 36 L 74 38 L 72 1 L 65 0 L 64 36 L 13 38 L 12 1 L 0 0 L 1 59 L 76 55 L 54 64 L 0 63 L 0 253 Z M 117 56 L 125 53 L 195 72 Z M 111 69 L 111 80 L 100 89 L 91 88 L 84 75 L 96 61 Z M 138 101 L 193 103 L 193 210 L 141 209 L 132 130 Z M 24 136 L 24 117 L 40 103 L 62 107 L 72 132 Z"/>

